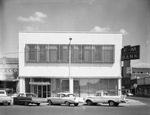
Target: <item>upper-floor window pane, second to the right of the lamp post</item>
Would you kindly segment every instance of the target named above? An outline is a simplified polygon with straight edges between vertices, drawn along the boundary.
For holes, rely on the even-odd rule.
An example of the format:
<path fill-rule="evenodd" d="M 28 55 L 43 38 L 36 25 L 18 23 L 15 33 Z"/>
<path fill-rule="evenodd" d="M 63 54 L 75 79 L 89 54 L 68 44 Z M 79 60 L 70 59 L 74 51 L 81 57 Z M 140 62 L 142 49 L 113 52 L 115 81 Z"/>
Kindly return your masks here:
<path fill-rule="evenodd" d="M 82 62 L 92 62 L 92 45 L 82 46 Z"/>

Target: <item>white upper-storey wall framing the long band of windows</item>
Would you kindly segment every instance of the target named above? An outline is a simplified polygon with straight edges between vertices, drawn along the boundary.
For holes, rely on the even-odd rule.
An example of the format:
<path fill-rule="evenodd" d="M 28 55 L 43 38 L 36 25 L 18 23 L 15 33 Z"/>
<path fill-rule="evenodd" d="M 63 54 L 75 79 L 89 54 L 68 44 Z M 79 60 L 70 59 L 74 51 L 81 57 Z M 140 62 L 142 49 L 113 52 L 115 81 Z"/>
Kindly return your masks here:
<path fill-rule="evenodd" d="M 25 63 L 26 44 L 95 44 L 114 45 L 115 58 L 111 64 L 71 64 L 70 74 L 74 78 L 120 78 L 121 77 L 121 34 L 92 33 L 19 33 L 19 76 L 20 77 L 69 77 L 69 64 Z"/>

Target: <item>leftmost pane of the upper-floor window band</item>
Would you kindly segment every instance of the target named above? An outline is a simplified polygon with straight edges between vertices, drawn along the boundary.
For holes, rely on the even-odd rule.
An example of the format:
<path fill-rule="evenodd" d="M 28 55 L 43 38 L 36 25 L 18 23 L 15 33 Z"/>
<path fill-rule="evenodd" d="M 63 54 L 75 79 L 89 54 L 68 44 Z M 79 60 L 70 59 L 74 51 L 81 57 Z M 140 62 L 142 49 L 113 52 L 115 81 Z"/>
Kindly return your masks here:
<path fill-rule="evenodd" d="M 37 62 L 37 45 L 29 44 L 25 48 L 26 62 Z"/>

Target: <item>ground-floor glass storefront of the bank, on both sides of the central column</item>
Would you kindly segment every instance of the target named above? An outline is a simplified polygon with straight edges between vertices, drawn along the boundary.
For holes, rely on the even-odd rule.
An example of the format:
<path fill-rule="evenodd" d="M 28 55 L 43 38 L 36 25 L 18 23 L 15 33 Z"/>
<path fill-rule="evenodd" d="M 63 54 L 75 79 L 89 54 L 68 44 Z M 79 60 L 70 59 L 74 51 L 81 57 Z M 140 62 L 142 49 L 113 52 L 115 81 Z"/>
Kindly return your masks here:
<path fill-rule="evenodd" d="M 69 91 L 69 79 L 64 78 L 27 78 L 26 92 L 32 92 L 40 98 L 55 96 L 59 92 Z M 97 91 L 107 91 L 109 95 L 118 95 L 118 79 L 79 78 L 74 79 L 74 94 L 79 97 L 95 95 Z"/>

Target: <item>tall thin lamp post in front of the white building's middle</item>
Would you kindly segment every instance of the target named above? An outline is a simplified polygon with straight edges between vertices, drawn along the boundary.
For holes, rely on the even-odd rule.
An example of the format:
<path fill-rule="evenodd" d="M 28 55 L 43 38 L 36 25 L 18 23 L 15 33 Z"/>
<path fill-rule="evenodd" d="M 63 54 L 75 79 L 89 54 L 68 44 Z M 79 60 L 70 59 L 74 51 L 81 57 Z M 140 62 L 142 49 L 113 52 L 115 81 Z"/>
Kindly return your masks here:
<path fill-rule="evenodd" d="M 71 40 L 69 38 L 69 92 L 73 93 L 73 79 L 71 77 Z"/>

